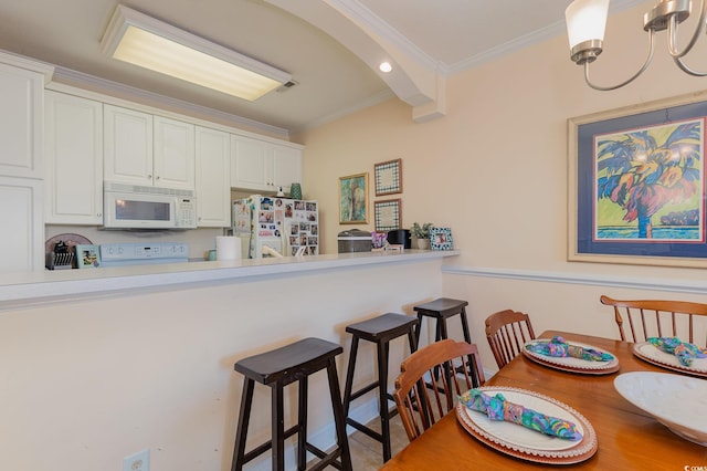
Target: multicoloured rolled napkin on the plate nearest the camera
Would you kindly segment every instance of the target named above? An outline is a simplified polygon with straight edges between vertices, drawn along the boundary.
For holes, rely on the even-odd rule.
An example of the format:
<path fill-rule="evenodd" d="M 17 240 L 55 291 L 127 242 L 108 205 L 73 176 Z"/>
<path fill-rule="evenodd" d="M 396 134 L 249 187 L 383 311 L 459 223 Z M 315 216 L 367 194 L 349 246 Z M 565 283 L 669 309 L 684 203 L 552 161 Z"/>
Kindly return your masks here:
<path fill-rule="evenodd" d="M 540 433 L 566 440 L 582 439 L 574 423 L 509 402 L 500 393 L 489 396 L 478 389 L 469 389 L 460 396 L 460 401 L 472 410 L 486 414 L 492 420 L 518 423 Z"/>

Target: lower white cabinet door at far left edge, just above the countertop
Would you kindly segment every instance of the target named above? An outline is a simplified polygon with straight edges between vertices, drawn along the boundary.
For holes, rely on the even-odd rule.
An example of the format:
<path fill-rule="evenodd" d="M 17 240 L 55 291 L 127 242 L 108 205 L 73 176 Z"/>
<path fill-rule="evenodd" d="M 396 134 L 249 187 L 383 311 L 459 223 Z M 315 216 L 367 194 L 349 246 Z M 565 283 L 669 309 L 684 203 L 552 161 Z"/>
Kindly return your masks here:
<path fill-rule="evenodd" d="M 42 270 L 44 224 L 42 180 L 0 177 L 0 273 Z"/>

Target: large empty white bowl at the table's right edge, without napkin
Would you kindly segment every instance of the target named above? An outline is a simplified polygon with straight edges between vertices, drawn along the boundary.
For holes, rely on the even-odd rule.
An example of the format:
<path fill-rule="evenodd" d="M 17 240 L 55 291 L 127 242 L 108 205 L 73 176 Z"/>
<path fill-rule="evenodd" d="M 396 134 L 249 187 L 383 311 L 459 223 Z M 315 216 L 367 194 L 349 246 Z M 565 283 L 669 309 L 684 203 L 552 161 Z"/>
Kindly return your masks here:
<path fill-rule="evenodd" d="M 675 435 L 707 447 L 707 381 L 683 375 L 632 371 L 616 376 L 621 396 Z"/>

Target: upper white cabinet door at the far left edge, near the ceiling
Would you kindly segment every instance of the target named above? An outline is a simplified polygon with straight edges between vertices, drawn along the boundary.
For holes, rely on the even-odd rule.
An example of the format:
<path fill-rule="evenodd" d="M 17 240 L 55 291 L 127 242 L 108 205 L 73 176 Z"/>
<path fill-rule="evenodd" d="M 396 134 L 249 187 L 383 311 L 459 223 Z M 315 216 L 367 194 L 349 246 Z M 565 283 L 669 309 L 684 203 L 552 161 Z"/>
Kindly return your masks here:
<path fill-rule="evenodd" d="M 0 175 L 43 178 L 43 75 L 0 64 Z"/>

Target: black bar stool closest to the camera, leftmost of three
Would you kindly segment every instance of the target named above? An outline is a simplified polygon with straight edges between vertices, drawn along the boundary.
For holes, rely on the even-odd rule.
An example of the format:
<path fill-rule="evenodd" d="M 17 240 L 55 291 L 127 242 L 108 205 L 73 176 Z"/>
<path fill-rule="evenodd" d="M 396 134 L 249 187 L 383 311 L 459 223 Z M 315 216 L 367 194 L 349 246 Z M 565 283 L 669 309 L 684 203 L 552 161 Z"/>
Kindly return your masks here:
<path fill-rule="evenodd" d="M 344 352 L 344 348 L 320 338 L 305 338 L 294 344 L 276 348 L 260 355 L 243 358 L 235 363 L 235 370 L 245 376 L 243 396 L 241 398 L 241 411 L 239 415 L 235 446 L 233 448 L 233 462 L 231 470 L 242 470 L 243 464 L 266 452 L 272 448 L 273 470 L 285 469 L 286 438 L 297 433 L 297 470 L 304 470 L 307 465 L 307 451 L 320 459 L 316 469 L 323 469 L 330 464 L 339 470 L 351 470 L 351 456 L 346 436 L 346 422 L 341 407 L 341 391 L 336 373 L 335 357 Z M 307 379 L 308 376 L 326 368 L 329 378 L 329 391 L 331 407 L 334 408 L 334 421 L 336 425 L 337 447 L 330 453 L 326 453 L 307 442 Z M 245 452 L 245 439 L 251 418 L 253 404 L 253 388 L 255 381 L 272 388 L 272 439 L 253 450 Z M 284 387 L 298 381 L 297 425 L 285 430 L 284 421 Z M 337 459 L 339 459 L 337 461 Z"/>

